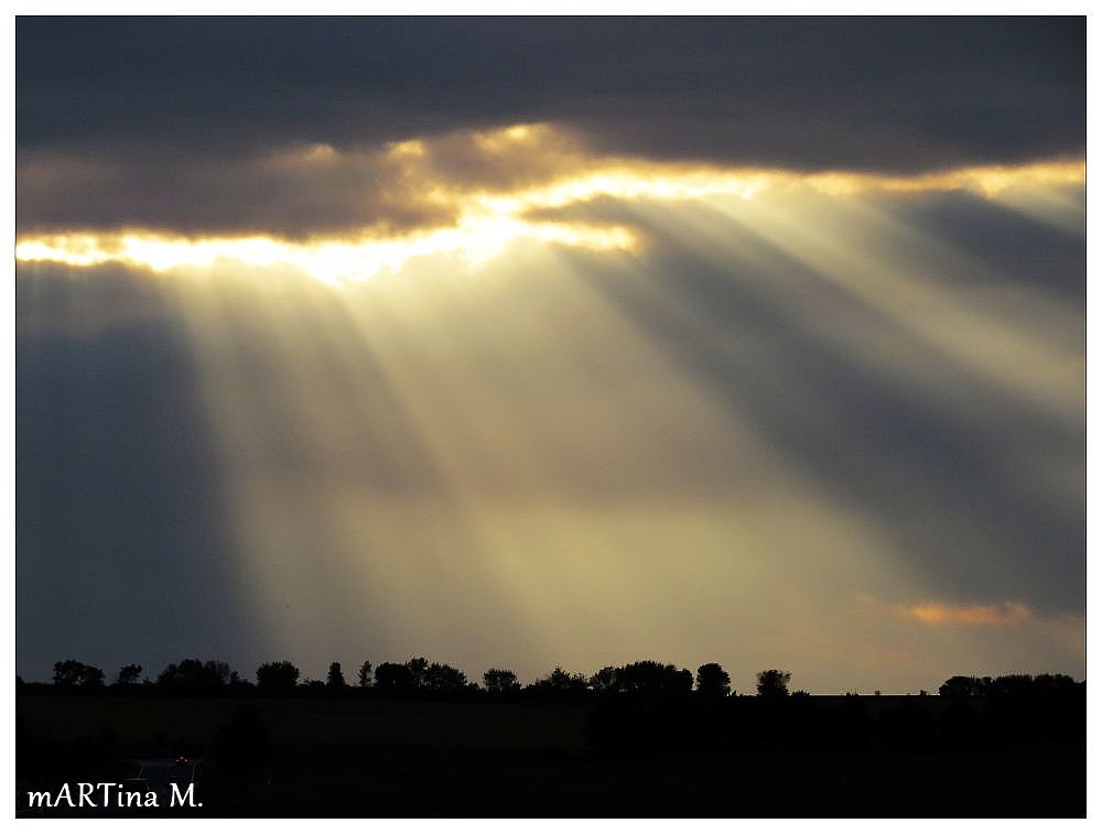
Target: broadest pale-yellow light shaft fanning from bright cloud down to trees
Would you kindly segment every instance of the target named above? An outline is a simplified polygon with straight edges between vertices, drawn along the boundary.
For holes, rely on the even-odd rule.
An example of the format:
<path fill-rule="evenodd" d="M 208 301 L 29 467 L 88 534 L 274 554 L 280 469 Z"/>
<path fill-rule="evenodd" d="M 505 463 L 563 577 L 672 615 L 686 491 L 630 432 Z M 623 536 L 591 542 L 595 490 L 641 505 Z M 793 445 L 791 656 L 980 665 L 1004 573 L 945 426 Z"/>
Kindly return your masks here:
<path fill-rule="evenodd" d="M 252 603 L 279 645 L 468 664 L 490 651 L 530 675 L 539 659 L 595 669 L 689 646 L 704 662 L 782 619 L 761 609 L 777 548 L 824 585 L 811 540 L 838 542 L 833 572 L 885 574 L 874 526 L 770 454 L 566 259 L 537 248 L 487 274 L 431 272 L 402 291 L 181 289 Z"/>

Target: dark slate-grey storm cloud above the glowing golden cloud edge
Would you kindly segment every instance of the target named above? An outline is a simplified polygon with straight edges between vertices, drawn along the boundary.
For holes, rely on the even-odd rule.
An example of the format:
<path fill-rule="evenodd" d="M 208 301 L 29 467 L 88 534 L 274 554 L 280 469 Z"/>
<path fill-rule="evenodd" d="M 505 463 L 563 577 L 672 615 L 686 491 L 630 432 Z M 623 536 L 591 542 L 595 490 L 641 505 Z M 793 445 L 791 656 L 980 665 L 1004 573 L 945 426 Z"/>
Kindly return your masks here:
<path fill-rule="evenodd" d="M 280 230 L 413 223 L 417 206 L 403 218 L 355 176 L 333 205 L 292 199 L 280 215 L 301 183 L 247 173 L 311 143 L 378 149 L 530 121 L 597 152 L 795 169 L 914 171 L 1085 147 L 1077 18 L 24 18 L 18 40 L 22 229 L 159 213 L 185 230 L 196 217 L 239 229 L 239 206 Z M 452 162 L 449 173 L 466 171 Z M 79 199 L 40 188 L 43 169 L 68 170 Z M 380 176 L 376 191 L 391 185 Z"/>

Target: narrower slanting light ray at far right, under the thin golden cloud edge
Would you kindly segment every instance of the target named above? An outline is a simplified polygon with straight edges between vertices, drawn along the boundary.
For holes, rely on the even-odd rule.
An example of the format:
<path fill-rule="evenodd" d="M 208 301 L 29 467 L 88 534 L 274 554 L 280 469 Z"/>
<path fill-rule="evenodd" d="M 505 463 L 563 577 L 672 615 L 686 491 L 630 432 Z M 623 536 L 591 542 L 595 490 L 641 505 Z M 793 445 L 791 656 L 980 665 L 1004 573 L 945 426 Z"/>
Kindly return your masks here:
<path fill-rule="evenodd" d="M 810 205 L 809 205 L 810 203 Z M 899 328 L 1036 408 L 1078 419 L 1079 398 L 1068 397 L 1068 373 L 1078 375 L 1077 345 L 1052 345 L 1035 334 L 1067 333 L 1077 314 L 1044 296 L 1023 299 L 1025 321 L 1008 319 L 982 292 L 954 286 L 954 275 L 998 285 L 985 264 L 925 239 L 860 201 L 818 201 L 754 212 L 732 210 L 739 223 L 791 253 Z M 948 280 L 947 280 L 948 279 Z M 1055 321 L 1054 321 L 1055 319 Z"/>

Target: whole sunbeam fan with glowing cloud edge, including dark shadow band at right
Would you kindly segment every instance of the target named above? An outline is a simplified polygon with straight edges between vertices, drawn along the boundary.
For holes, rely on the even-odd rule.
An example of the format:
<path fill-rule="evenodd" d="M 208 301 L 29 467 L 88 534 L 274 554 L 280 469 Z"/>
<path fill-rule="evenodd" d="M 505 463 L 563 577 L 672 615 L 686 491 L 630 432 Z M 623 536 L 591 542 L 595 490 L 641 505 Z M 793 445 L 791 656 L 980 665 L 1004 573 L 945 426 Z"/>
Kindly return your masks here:
<path fill-rule="evenodd" d="M 526 130 L 468 145 L 500 161 L 562 141 Z M 426 182 L 442 153 L 387 159 Z M 536 675 L 665 652 L 782 660 L 824 686 L 872 686 L 892 658 L 916 690 L 947 652 L 1080 662 L 1058 577 L 1081 565 L 1062 532 L 1082 517 L 1081 310 L 907 213 L 966 195 L 1072 229 L 1082 163 L 903 176 L 562 153 L 538 182 L 441 181 L 455 216 L 435 227 L 20 236 L 21 269 L 88 274 L 65 300 L 78 315 L 29 301 L 24 328 L 145 314 L 104 303 L 96 270 L 140 275 L 182 323 L 257 657 Z M 1038 576 L 1038 549 L 1060 568 Z M 1016 641 L 946 637 L 1018 599 Z"/>

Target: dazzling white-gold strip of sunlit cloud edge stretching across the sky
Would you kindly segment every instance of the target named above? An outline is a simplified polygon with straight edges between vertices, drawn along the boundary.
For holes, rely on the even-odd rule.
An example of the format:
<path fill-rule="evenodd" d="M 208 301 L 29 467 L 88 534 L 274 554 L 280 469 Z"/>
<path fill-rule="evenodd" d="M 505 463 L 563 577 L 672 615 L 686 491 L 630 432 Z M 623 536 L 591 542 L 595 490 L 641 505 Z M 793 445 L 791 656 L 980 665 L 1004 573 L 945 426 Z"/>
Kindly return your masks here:
<path fill-rule="evenodd" d="M 553 136 L 553 134 L 552 134 Z M 538 155 L 548 141 L 545 126 L 516 126 L 476 134 L 475 144 L 487 153 Z M 387 159 L 421 164 L 425 145 L 420 140 L 389 145 Z M 341 154 L 328 145 L 282 159 L 281 164 L 331 165 Z M 449 226 L 400 235 L 365 230 L 358 237 L 322 237 L 305 240 L 267 235 L 186 237 L 148 229 L 25 235 L 17 239 L 21 261 L 57 261 L 88 267 L 122 262 L 156 272 L 180 268 L 210 268 L 230 262 L 249 267 L 282 266 L 326 283 L 361 281 L 382 272 L 400 271 L 410 260 L 451 253 L 476 267 L 514 241 L 534 239 L 597 251 L 637 251 L 640 235 L 625 225 L 538 218 L 541 210 L 564 209 L 598 198 L 622 202 L 677 203 L 713 197 L 750 201 L 769 195 L 784 198 L 801 192 L 833 197 L 868 193 L 914 193 L 966 189 L 988 199 L 1005 199 L 1029 212 L 1029 194 L 1045 188 L 1082 183 L 1085 162 L 1042 162 L 1018 166 L 966 167 L 954 171 L 889 176 L 869 173 L 825 172 L 804 174 L 777 169 L 722 169 L 683 163 L 649 163 L 572 156 L 570 174 L 522 188 L 490 191 L 432 182 L 426 193 L 455 206 Z M 1016 195 L 1006 197 L 1006 195 Z M 1023 197 L 1023 195 L 1025 195 Z M 1023 199 L 1025 204 L 1023 205 Z M 1035 202 L 1035 201 L 1034 201 Z"/>

